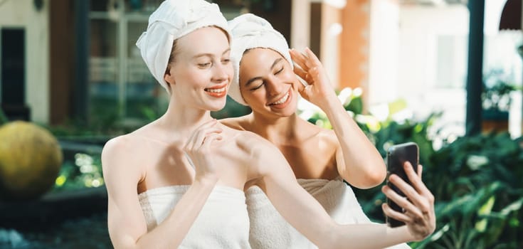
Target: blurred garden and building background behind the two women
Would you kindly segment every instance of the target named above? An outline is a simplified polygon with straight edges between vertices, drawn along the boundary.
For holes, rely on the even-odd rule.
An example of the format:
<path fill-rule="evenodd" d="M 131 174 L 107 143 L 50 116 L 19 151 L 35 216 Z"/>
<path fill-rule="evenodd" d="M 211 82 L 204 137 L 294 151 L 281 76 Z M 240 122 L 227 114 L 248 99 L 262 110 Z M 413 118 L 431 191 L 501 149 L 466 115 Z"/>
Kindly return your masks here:
<path fill-rule="evenodd" d="M 0 0 L 0 248 L 111 247 L 100 152 L 167 108 L 134 45 L 161 2 Z M 413 248 L 523 248 L 522 0 L 212 2 L 319 55 L 384 157 L 419 144 L 438 227 Z M 356 195 L 384 221 L 379 187 Z"/>

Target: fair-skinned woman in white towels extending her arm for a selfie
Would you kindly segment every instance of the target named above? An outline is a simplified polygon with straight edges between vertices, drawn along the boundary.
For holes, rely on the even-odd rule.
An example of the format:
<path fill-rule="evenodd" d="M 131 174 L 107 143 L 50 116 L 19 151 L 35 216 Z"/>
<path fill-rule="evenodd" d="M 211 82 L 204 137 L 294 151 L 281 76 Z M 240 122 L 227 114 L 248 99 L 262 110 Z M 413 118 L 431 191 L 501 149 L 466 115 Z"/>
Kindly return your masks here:
<path fill-rule="evenodd" d="M 401 228 L 334 223 L 297 184 L 278 148 L 213 120 L 209 112 L 225 105 L 233 75 L 225 18 L 218 13 L 204 0 L 167 0 L 137 42 L 170 102 L 158 120 L 103 149 L 115 248 L 250 248 L 243 193 L 250 186 L 263 189 L 282 216 L 321 248 L 383 248 L 432 233 L 430 205 L 423 209 L 429 216 L 417 213 L 416 222 Z M 428 190 L 415 172 L 408 174 L 415 189 L 400 180 L 398 186 L 416 200 L 418 191 Z M 389 196 L 419 211 L 421 203 Z"/>

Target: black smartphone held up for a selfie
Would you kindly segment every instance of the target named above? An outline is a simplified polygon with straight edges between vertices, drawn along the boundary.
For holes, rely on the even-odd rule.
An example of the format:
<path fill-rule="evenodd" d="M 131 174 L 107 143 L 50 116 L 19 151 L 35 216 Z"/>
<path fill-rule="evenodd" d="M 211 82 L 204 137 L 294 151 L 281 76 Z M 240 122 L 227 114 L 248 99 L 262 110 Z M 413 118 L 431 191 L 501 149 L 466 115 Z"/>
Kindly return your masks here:
<path fill-rule="evenodd" d="M 419 161 L 419 148 L 418 144 L 415 142 L 406 142 L 404 144 L 395 144 L 389 148 L 387 151 L 387 185 L 396 191 L 400 196 L 405 196 L 401 190 L 399 190 L 394 184 L 391 184 L 389 181 L 389 176 L 391 174 L 396 174 L 401 177 L 403 181 L 406 181 L 407 184 L 411 184 L 411 181 L 408 180 L 408 177 L 403 169 L 403 164 L 409 161 L 414 168 L 414 171 L 418 172 L 418 161 Z M 395 202 L 387 198 L 387 203 L 389 206 L 398 212 L 405 213 L 401 206 L 398 206 Z M 398 226 L 403 226 L 405 223 L 403 221 L 397 221 L 393 218 L 386 216 L 386 223 L 389 224 L 391 228 Z"/>

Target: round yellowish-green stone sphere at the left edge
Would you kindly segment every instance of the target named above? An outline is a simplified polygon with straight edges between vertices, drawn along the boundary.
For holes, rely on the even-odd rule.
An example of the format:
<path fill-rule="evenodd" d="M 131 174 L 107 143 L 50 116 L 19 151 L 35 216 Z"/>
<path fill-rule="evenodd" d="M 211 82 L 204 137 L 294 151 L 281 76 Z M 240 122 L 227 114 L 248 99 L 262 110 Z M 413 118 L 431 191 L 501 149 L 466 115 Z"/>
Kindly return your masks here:
<path fill-rule="evenodd" d="M 31 122 L 0 127 L 0 200 L 38 198 L 55 184 L 62 166 L 56 137 Z"/>

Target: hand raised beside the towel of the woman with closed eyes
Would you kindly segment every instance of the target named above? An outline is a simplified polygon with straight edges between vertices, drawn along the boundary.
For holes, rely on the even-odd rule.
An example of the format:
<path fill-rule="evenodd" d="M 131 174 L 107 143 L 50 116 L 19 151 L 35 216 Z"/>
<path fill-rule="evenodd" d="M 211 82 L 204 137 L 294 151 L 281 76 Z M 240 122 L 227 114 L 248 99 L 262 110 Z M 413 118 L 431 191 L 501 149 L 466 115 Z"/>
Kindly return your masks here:
<path fill-rule="evenodd" d="M 337 100 L 336 92 L 332 88 L 322 63 L 309 48 L 305 48 L 305 54 L 291 49 L 290 57 L 295 62 L 294 73 L 308 84 L 307 87 L 300 85 L 299 88 L 300 95 L 305 100 L 322 109 L 329 104 L 329 100 Z"/>

